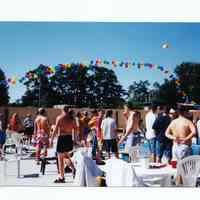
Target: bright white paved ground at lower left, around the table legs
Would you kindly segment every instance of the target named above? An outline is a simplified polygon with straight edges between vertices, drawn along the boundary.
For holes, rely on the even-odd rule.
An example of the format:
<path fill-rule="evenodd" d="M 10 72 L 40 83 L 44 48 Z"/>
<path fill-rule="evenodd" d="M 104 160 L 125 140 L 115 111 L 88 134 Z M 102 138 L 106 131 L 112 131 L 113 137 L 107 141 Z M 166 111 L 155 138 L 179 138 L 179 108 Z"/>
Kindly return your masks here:
<path fill-rule="evenodd" d="M 21 177 L 17 178 L 17 162 L 14 156 L 8 157 L 13 162 L 7 163 L 6 173 L 4 170 L 5 161 L 0 161 L 0 186 L 73 186 L 71 174 L 66 174 L 65 184 L 55 184 L 53 182 L 57 176 L 56 164 L 46 165 L 46 173 L 43 176 L 40 174 L 40 166 L 36 165 L 34 160 L 21 161 Z M 39 177 L 24 178 L 23 175 L 27 174 L 39 174 Z"/>

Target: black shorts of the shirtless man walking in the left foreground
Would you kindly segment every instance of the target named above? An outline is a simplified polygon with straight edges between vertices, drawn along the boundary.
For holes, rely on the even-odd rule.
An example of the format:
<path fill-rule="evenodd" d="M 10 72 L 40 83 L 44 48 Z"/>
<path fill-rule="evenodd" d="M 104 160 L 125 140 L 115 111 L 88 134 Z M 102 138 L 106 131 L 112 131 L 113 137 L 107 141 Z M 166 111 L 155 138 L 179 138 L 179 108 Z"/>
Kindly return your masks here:
<path fill-rule="evenodd" d="M 57 140 L 57 153 L 65 153 L 73 150 L 72 135 L 60 135 Z"/>

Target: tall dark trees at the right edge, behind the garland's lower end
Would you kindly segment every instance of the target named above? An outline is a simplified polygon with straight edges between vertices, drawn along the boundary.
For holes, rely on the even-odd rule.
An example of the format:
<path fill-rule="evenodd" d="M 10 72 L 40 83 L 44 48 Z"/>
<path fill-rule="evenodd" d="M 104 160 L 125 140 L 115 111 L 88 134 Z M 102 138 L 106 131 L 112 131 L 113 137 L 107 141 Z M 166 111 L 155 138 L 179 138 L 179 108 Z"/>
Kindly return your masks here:
<path fill-rule="evenodd" d="M 154 100 L 173 107 L 186 100 L 200 103 L 200 64 L 183 62 L 174 72 L 176 79 L 154 84 Z"/>

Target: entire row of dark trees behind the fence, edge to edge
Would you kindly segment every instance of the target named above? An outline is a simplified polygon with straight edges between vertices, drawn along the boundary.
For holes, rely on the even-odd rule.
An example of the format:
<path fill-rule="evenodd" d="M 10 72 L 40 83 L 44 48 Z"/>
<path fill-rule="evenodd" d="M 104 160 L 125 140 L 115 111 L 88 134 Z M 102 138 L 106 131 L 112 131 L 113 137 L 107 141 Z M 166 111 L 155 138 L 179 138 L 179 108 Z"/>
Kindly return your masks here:
<path fill-rule="evenodd" d="M 46 70 L 47 66 L 39 65 L 27 72 L 38 76 L 23 81 L 26 92 L 13 105 L 52 107 L 67 104 L 74 107 L 120 108 L 126 101 L 131 101 L 135 107 L 142 108 L 153 102 L 172 107 L 177 102 L 188 99 L 200 103 L 199 63 L 182 63 L 176 66 L 174 73 L 180 81 L 178 87 L 174 79 L 165 79 L 163 84 L 155 82 L 153 85 L 148 80 L 141 80 L 131 83 L 127 90 L 119 83 L 115 72 L 104 67 L 80 67 L 79 64 L 72 64 L 65 70 L 57 69 L 51 76 Z M 5 79 L 5 74 L 0 69 L 0 82 Z M 0 84 L 0 94 L 0 106 L 8 105 L 8 86 Z"/>

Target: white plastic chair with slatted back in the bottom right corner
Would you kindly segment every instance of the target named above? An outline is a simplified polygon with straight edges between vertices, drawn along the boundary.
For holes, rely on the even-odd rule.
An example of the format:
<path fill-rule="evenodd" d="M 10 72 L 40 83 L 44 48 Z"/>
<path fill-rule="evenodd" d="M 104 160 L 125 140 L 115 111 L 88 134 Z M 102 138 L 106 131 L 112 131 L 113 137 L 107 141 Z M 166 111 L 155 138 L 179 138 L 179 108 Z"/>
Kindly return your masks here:
<path fill-rule="evenodd" d="M 189 156 L 180 160 L 177 165 L 177 175 L 180 175 L 185 187 L 196 187 L 200 175 L 200 156 Z"/>

